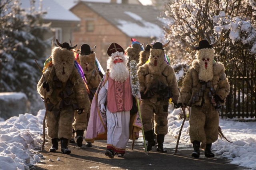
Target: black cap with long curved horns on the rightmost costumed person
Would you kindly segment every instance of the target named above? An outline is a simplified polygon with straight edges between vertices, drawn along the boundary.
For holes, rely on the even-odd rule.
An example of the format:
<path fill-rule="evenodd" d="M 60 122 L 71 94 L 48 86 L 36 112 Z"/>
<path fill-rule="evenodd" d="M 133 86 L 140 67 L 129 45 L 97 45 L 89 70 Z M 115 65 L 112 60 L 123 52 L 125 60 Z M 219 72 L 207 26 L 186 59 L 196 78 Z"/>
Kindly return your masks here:
<path fill-rule="evenodd" d="M 190 45 L 188 42 L 186 42 L 184 39 L 181 39 L 188 47 L 190 47 L 190 49 L 193 49 L 193 50 L 200 50 L 200 49 L 206 49 L 206 48 L 209 48 L 211 49 L 212 47 L 216 47 L 221 39 L 222 39 L 222 33 L 224 33 L 224 30 L 222 29 L 221 33 L 220 33 L 220 37 L 218 38 L 218 40 L 215 42 L 215 43 L 212 43 L 210 44 L 206 39 L 203 39 L 203 40 L 200 40 L 198 42 L 198 47 L 196 46 L 192 46 Z"/>

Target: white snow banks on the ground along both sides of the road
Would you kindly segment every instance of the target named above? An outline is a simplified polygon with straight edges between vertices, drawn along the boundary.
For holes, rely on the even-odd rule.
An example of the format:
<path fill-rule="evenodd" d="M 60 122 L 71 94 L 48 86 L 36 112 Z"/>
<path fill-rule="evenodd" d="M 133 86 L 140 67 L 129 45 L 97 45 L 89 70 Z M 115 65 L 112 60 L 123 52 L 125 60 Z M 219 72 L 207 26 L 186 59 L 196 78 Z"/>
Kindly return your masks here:
<path fill-rule="evenodd" d="M 0 122 L 0 170 L 28 170 L 40 162 L 44 113 L 42 109 L 36 116 L 25 113 Z M 183 121 L 178 119 L 179 113 L 181 109 L 174 109 L 168 115 L 169 135 L 176 138 Z M 220 119 L 220 127 L 233 143 L 218 139 L 212 144 L 212 152 L 228 158 L 231 164 L 256 170 L 256 123 Z M 189 123 L 185 121 L 180 143 L 192 146 L 188 131 Z"/>

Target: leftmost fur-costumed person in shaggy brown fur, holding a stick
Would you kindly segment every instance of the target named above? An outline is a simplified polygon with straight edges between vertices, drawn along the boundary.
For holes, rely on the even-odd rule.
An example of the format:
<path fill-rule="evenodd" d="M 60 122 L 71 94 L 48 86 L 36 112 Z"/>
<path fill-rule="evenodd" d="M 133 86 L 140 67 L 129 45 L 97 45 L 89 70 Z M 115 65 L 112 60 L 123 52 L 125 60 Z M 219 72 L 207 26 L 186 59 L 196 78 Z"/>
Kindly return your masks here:
<path fill-rule="evenodd" d="M 69 154 L 68 140 L 72 138 L 74 111 L 81 114 L 88 111 L 90 101 L 86 86 L 77 68 L 74 66 L 74 54 L 66 42 L 56 42 L 60 47 L 52 49 L 52 67 L 48 67 L 38 82 L 37 91 L 46 102 L 47 135 L 52 140 L 50 152 L 58 150 L 60 139 L 61 151 Z"/>

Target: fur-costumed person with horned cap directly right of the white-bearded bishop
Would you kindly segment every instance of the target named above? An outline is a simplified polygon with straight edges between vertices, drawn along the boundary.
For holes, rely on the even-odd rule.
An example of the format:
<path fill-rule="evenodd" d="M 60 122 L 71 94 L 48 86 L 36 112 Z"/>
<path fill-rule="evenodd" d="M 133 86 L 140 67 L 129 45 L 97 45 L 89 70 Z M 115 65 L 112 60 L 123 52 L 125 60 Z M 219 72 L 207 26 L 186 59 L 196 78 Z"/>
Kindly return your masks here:
<path fill-rule="evenodd" d="M 169 41 L 170 42 L 170 41 Z M 166 63 L 164 47 L 160 42 L 150 44 L 149 62 L 138 69 L 140 83 L 140 95 L 142 98 L 141 115 L 144 134 L 148 140 L 147 150 L 150 151 L 156 145 L 154 133 L 156 133 L 157 151 L 167 152 L 163 148 L 164 136 L 168 133 L 168 105 L 172 97 L 177 102 L 179 92 L 174 69 Z M 154 129 L 152 116 L 154 115 Z"/>

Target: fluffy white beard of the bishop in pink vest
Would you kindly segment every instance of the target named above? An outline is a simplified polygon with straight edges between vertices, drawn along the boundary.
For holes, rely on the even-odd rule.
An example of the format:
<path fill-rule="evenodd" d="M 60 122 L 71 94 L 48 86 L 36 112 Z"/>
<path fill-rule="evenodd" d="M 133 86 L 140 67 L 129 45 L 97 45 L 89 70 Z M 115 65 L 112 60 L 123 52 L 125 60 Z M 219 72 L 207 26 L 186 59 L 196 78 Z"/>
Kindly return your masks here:
<path fill-rule="evenodd" d="M 129 76 L 129 71 L 124 63 L 111 63 L 110 78 L 116 82 L 124 82 Z"/>

